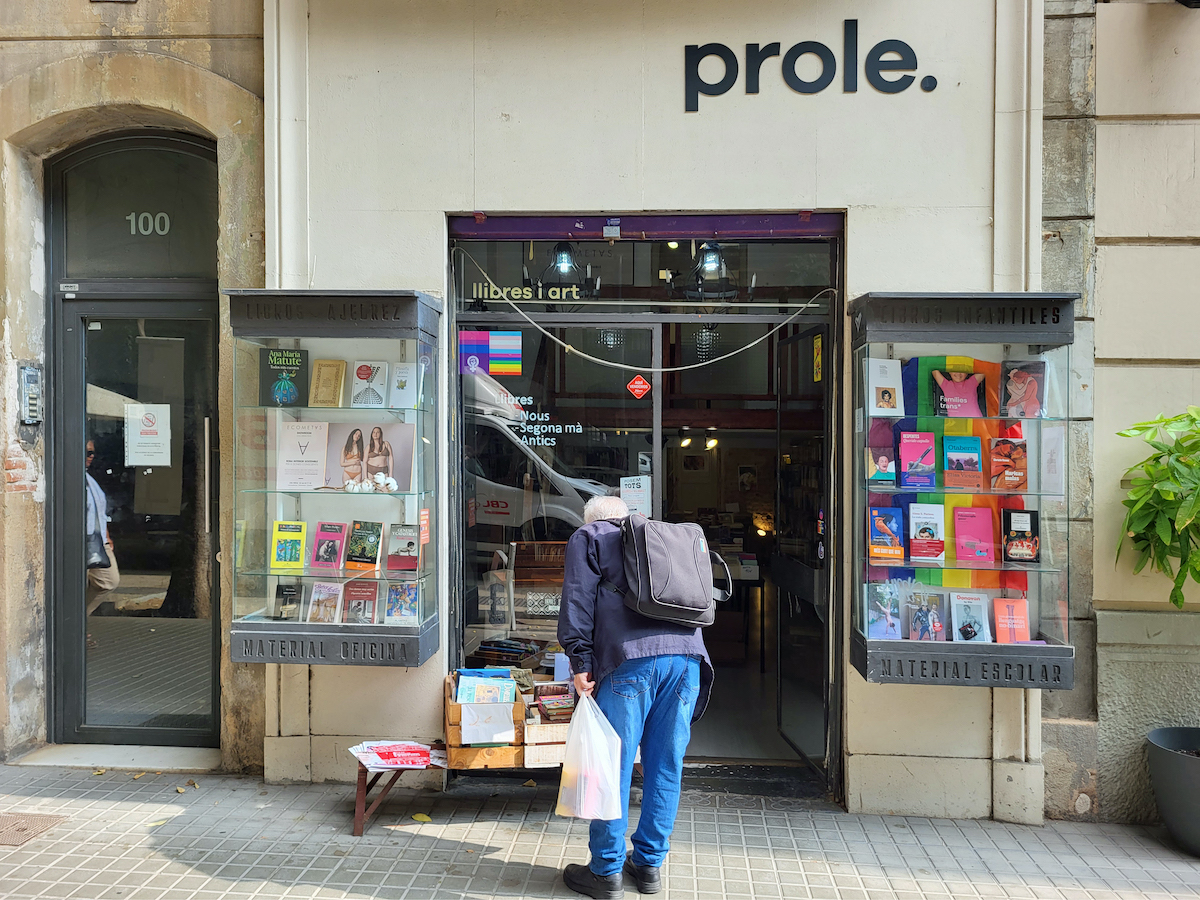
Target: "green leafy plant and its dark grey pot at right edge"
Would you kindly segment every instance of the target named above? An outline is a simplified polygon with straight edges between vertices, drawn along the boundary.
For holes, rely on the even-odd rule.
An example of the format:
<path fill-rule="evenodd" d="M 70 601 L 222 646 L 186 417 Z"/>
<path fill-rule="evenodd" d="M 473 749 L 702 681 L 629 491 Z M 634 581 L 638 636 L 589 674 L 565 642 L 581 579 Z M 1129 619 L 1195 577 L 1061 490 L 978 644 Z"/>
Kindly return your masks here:
<path fill-rule="evenodd" d="M 1126 473 L 1117 559 L 1128 538 L 1138 553 L 1134 572 L 1152 565 L 1169 577 L 1169 599 L 1182 608 L 1188 576 L 1200 582 L 1200 407 L 1117 433 L 1154 451 Z M 1146 739 L 1158 814 L 1176 842 L 1200 856 L 1200 728 L 1156 728 Z"/>

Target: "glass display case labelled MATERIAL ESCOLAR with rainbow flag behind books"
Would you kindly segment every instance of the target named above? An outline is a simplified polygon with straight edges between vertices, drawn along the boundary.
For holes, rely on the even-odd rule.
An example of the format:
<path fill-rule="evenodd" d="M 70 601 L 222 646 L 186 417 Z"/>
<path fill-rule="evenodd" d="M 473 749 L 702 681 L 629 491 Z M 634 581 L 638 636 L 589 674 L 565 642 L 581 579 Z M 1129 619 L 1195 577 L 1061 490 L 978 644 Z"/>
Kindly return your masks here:
<path fill-rule="evenodd" d="M 851 305 L 851 658 L 866 680 L 1073 686 L 1074 299 Z"/>

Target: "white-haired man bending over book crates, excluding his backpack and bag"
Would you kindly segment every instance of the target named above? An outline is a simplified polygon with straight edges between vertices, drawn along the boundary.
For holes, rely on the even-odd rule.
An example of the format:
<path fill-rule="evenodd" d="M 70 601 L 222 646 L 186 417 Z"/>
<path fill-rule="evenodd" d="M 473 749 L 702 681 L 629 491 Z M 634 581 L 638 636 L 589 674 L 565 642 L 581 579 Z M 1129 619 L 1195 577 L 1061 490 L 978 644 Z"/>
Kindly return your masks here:
<path fill-rule="evenodd" d="M 588 865 L 568 865 L 563 881 L 593 898 L 624 895 L 622 871 L 642 894 L 658 893 L 679 809 L 683 755 L 691 724 L 704 712 L 713 666 L 698 628 L 649 619 L 625 606 L 618 497 L 594 497 L 583 527 L 566 542 L 558 640 L 571 660 L 575 686 L 590 694 L 620 734 L 620 818 L 593 821 Z M 601 587 L 607 582 L 618 588 Z M 629 784 L 642 749 L 642 815 L 625 853 Z"/>

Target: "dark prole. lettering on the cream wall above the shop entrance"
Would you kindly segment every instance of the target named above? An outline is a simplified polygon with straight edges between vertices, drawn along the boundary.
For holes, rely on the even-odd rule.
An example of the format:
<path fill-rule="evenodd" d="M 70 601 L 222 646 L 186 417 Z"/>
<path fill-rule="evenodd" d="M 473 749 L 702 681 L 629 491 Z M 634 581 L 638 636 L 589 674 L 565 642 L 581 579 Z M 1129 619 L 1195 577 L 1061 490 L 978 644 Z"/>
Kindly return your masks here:
<path fill-rule="evenodd" d="M 773 56 L 779 56 L 779 41 L 768 44 L 748 43 L 745 50 L 746 94 L 758 92 L 758 76 L 762 65 Z M 805 80 L 796 71 L 800 56 L 812 54 L 821 62 L 821 72 L 812 80 Z M 708 56 L 716 56 L 725 64 L 725 74 L 718 82 L 706 82 L 700 77 L 700 64 Z M 826 44 L 818 41 L 800 41 L 782 54 L 781 73 L 784 82 L 797 94 L 820 94 L 838 74 L 838 59 Z M 858 92 L 858 19 L 846 19 L 842 28 L 842 70 L 841 85 L 846 94 Z M 724 43 L 688 44 L 684 61 L 685 108 L 689 113 L 700 109 L 700 95 L 718 97 L 725 94 L 738 80 L 738 56 Z M 880 41 L 868 53 L 863 62 L 868 83 L 882 94 L 900 94 L 912 85 L 916 76 L 894 72 L 916 72 L 917 53 L 904 41 Z M 931 91 L 937 88 L 934 76 L 920 79 L 920 89 Z"/>

